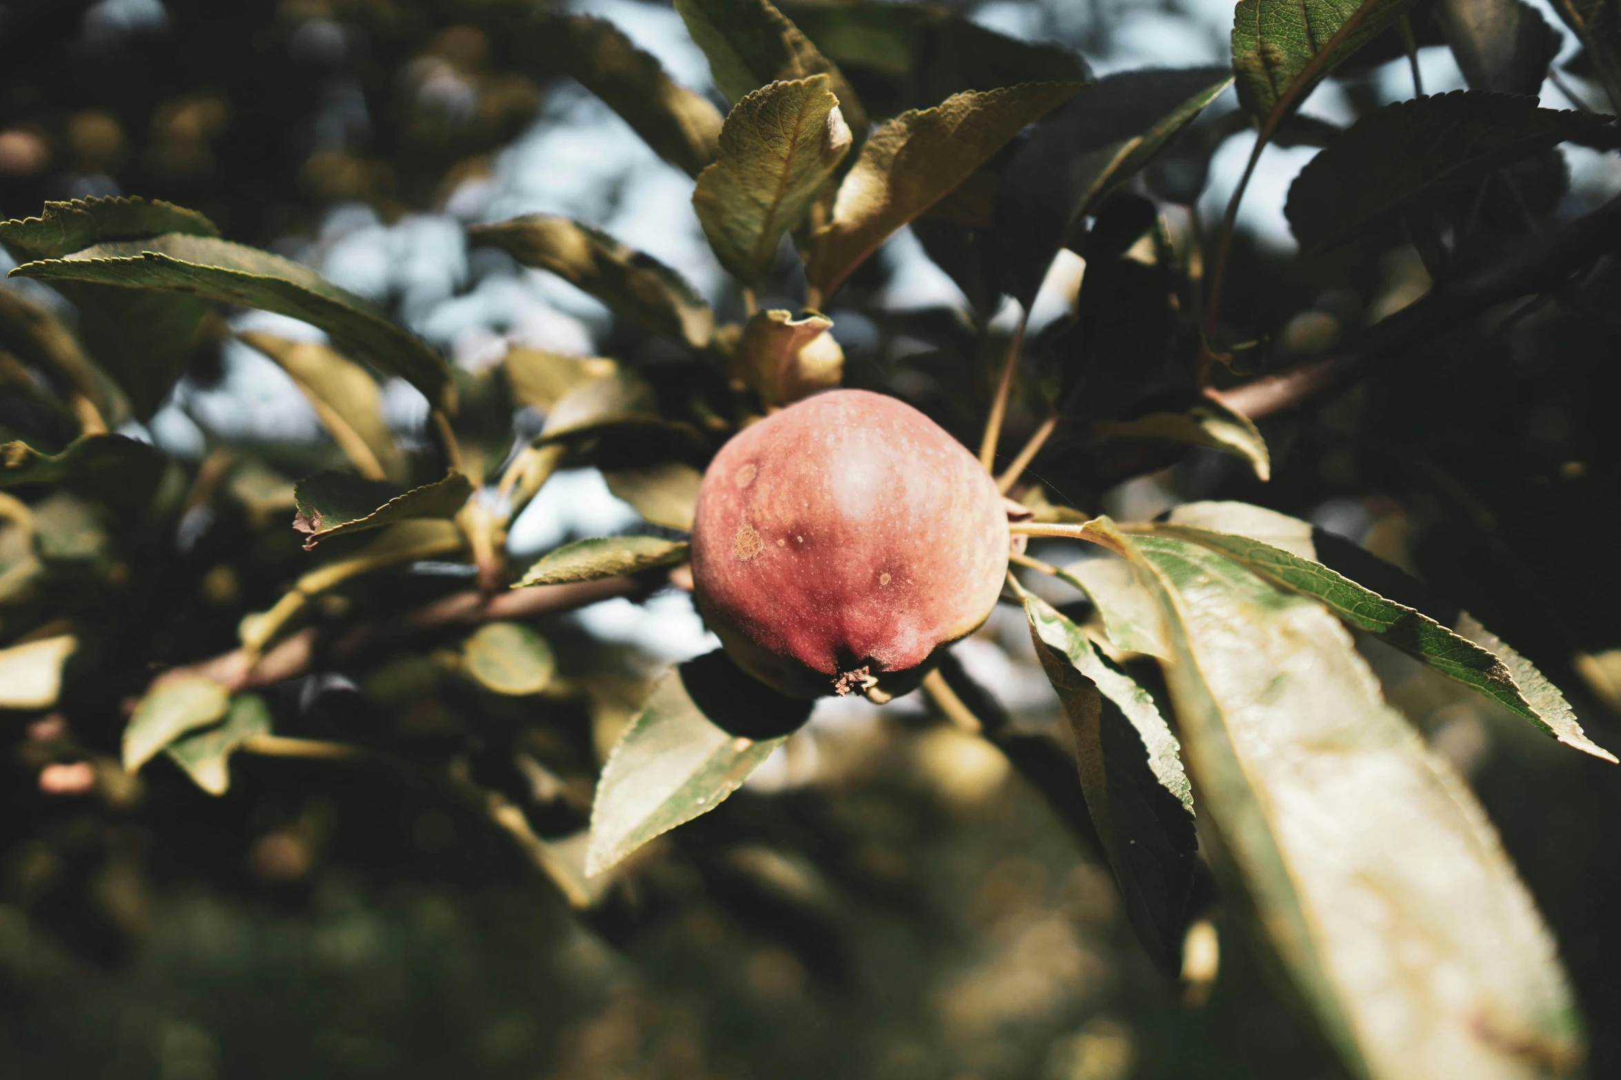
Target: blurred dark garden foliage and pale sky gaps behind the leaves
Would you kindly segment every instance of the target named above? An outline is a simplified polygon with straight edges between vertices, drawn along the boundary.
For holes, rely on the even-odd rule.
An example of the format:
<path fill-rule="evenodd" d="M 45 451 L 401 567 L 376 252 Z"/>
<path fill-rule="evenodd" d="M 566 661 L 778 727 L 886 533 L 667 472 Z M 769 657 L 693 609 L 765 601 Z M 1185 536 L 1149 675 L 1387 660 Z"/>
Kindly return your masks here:
<path fill-rule="evenodd" d="M 679 83 L 720 100 L 668 6 L 577 10 L 611 19 Z M 786 10 L 817 36 L 823 8 Z M 953 10 L 1060 42 L 1097 74 L 1227 63 L 1232 10 L 1221 0 Z M 671 356 L 558 279 L 468 249 L 465 223 L 569 214 L 678 267 L 720 314 L 741 313 L 691 214 L 691 181 L 548 66 L 530 16 L 528 0 L 0 3 L 0 217 L 39 214 L 45 199 L 141 194 L 318 267 L 452 358 L 460 423 L 494 418 L 480 450 L 494 468 L 514 411 L 494 374 L 509 347 L 645 369 Z M 1414 24 L 1425 87 L 1464 86 L 1428 8 Z M 903 57 L 874 40 L 822 44 L 879 115 L 939 100 L 963 84 L 952 65 L 987 49 L 942 34 Z M 1571 89 L 1550 81 L 1545 104 L 1571 107 L 1568 92 L 1600 100 L 1574 40 L 1561 49 Z M 1394 236 L 1295 259 L 1281 212 L 1323 130 L 1410 92 L 1401 42 L 1376 44 L 1308 102 L 1319 128 L 1300 125 L 1263 155 L 1227 301 L 1230 337 L 1263 342 L 1242 374 L 1324 353 L 1428 287 Z M 1162 238 L 1183 256 L 1117 259 L 1125 269 L 1094 277 L 1102 285 L 1078 313 L 1086 348 L 1177 348 L 1187 327 L 1164 304 L 1170 262 L 1188 272 L 1200 222 L 1219 215 L 1237 180 L 1253 139 L 1237 117 L 1229 92 L 1144 175 L 1138 191 L 1157 201 Z M 1611 198 L 1621 168 L 1602 147 L 1568 146 L 1520 181 L 1483 209 L 1504 236 Z M 982 395 L 969 372 L 1012 324 L 976 334 L 963 291 L 974 279 L 958 264 L 953 282 L 926 241 L 926 228 L 908 232 L 856 275 L 830 311 L 835 335 L 848 384 L 898 393 L 973 442 Z M 1094 261 L 1107 261 L 1106 246 Z M 1054 497 L 1125 520 L 1221 497 L 1311 518 L 1498 628 L 1615 746 L 1615 280 L 1602 264 L 1571 303 L 1464 324 L 1326 403 L 1268 419 L 1268 484 L 1213 450 L 1101 445 L 1063 429 L 1036 473 Z M 45 287 L 5 288 L 73 321 Z M 789 303 L 788 283 L 778 288 L 778 306 Z M 1065 345 L 1070 300 L 1073 285 L 1037 301 L 1037 358 L 1080 348 Z M 1049 338 L 1041 327 L 1054 327 Z M 1341 1075 L 1219 905 L 1190 978 L 1156 973 L 1086 842 L 999 751 L 917 698 L 882 711 L 820 706 L 742 792 L 637 857 L 622 889 L 585 916 L 485 814 L 383 769 L 238 755 L 220 798 L 167 761 L 125 776 L 115 756 L 131 695 L 154 665 L 232 648 L 240 615 L 272 604 L 308 565 L 287 528 L 290 479 L 342 460 L 292 381 L 227 330 L 298 337 L 285 319 L 220 313 L 172 392 L 109 418 L 183 463 L 164 481 L 164 515 L 49 494 L 31 502 L 32 541 L 16 523 L 0 531 L 5 588 L 44 573 L 6 593 L 3 640 L 68 619 L 104 643 L 75 659 L 60 709 L 0 716 L 11 746 L 0 785 L 5 1075 Z M 1110 393 L 1151 397 L 1157 374 L 1143 364 L 1115 382 L 1099 376 L 1096 415 L 1110 415 Z M 13 392 L 0 390 L 8 427 L 26 419 L 3 405 Z M 400 381 L 381 393 L 400 444 L 426 445 L 423 398 Z M 1020 439 L 1041 418 L 1029 397 L 1010 418 Z M 538 416 L 519 411 L 524 424 Z M 600 473 L 566 470 L 509 547 L 540 552 L 635 521 Z M 1065 555 L 1062 542 L 1036 551 Z M 324 597 L 321 615 L 358 623 L 402 601 L 428 606 L 467 589 L 456 573 L 425 562 L 386 585 L 360 581 Z M 572 690 L 538 712 L 444 659 L 465 627 L 407 628 L 387 649 L 318 665 L 266 698 L 277 730 L 452 758 L 520 803 L 538 834 L 567 836 L 644 680 L 710 648 L 684 594 L 639 599 L 532 620 Z M 1590 1074 L 1621 1074 L 1621 776 L 1392 653 L 1368 654 L 1392 703 L 1475 784 L 1555 928 L 1592 1030 Z M 999 615 L 956 657 L 990 688 L 979 708 L 1033 738 L 1065 737 L 1023 619 Z"/>

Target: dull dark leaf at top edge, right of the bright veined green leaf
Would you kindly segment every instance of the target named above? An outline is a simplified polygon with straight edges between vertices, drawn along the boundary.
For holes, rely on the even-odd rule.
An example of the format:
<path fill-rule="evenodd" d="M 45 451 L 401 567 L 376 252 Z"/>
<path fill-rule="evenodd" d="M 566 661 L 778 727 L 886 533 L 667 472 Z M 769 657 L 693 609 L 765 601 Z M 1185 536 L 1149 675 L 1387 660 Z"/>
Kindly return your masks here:
<path fill-rule="evenodd" d="M 1470 89 L 1542 91 L 1561 42 L 1537 8 L 1524 0 L 1438 0 L 1435 10 Z"/>

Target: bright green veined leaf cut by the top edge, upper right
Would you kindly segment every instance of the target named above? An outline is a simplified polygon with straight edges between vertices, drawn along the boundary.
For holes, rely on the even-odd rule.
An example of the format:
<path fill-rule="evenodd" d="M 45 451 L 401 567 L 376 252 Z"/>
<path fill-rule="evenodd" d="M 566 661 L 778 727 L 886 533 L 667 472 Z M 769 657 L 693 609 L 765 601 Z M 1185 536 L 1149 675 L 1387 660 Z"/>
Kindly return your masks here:
<path fill-rule="evenodd" d="M 1311 89 L 1414 0 L 1238 0 L 1232 70 L 1238 100 L 1271 138 Z"/>

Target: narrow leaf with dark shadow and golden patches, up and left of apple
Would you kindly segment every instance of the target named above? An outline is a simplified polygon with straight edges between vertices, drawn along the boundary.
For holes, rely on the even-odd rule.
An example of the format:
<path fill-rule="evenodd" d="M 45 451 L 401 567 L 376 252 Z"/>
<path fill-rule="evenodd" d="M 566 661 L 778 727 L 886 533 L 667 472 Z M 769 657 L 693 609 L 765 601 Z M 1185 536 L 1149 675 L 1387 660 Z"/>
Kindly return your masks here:
<path fill-rule="evenodd" d="M 715 332 L 715 314 L 684 277 L 590 225 L 527 214 L 494 225 L 470 225 L 467 235 L 496 244 L 524 266 L 551 270 L 674 342 L 704 348 Z"/>

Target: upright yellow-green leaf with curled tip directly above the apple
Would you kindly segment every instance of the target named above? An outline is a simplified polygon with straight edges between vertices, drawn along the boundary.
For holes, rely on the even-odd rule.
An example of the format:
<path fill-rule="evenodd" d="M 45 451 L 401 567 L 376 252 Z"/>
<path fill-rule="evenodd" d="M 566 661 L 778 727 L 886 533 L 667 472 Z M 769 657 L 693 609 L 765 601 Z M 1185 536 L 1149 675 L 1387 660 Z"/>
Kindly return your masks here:
<path fill-rule="evenodd" d="M 720 131 L 720 157 L 699 175 L 692 209 L 720 264 L 759 285 L 845 154 L 849 128 L 825 74 L 746 94 Z"/>

